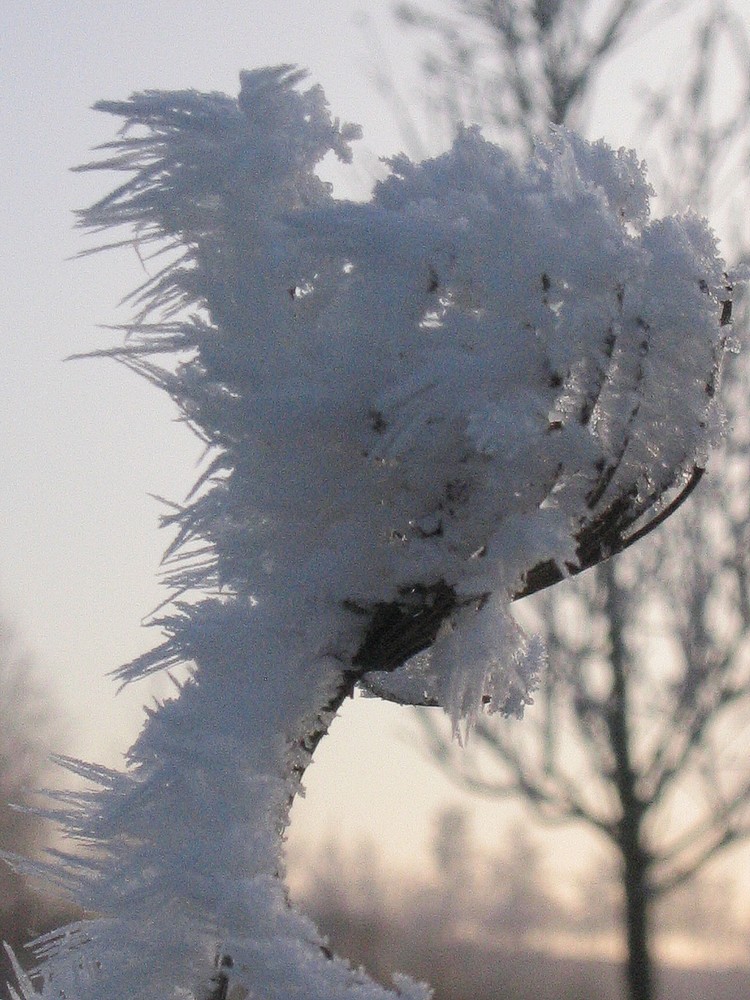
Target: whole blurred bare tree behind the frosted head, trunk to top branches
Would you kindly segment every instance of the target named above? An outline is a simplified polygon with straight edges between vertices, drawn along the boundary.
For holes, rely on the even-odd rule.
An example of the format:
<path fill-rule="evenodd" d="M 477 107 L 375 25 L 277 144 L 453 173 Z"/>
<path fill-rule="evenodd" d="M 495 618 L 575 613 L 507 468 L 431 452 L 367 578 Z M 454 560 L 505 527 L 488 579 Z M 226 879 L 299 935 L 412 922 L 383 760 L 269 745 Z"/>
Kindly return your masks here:
<path fill-rule="evenodd" d="M 602 5 L 587 0 L 460 0 L 454 9 L 468 16 L 468 31 L 400 10 L 430 33 L 431 99 L 442 93 L 449 114 L 468 108 L 528 143 L 545 121 L 580 126 L 597 74 L 622 42 L 689 6 L 621 0 L 597 19 Z M 697 13 L 684 74 L 647 92 L 645 114 L 665 202 L 731 219 L 750 141 L 747 26 L 723 2 Z M 722 100 L 727 63 L 736 86 Z M 745 234 L 734 227 L 732 235 L 741 255 Z M 551 667 L 523 725 L 480 721 L 466 754 L 424 719 L 433 754 L 466 787 L 522 795 L 544 819 L 584 823 L 613 846 L 632 1000 L 654 995 L 656 904 L 750 836 L 750 768 L 738 749 L 750 725 L 747 384 L 735 366 L 724 454 L 670 528 L 537 599 Z"/>

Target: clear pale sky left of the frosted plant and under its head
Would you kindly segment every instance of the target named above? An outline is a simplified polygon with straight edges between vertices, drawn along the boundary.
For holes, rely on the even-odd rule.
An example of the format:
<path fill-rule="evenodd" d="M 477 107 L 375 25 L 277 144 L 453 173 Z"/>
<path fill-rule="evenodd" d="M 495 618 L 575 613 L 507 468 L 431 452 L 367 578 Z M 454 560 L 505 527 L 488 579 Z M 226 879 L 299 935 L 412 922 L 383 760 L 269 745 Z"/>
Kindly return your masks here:
<path fill-rule="evenodd" d="M 115 120 L 90 106 L 150 88 L 235 93 L 240 69 L 298 63 L 336 115 L 364 126 L 364 190 L 378 155 L 403 144 L 375 67 L 398 67 L 407 95 L 415 81 L 413 39 L 397 33 L 389 10 L 358 0 L 0 5 L 0 614 L 49 685 L 63 734 L 54 749 L 118 766 L 132 742 L 153 692 L 141 685 L 115 698 L 106 674 L 158 640 L 141 627 L 166 596 L 157 571 L 167 539 L 151 495 L 181 500 L 200 453 L 168 400 L 136 376 L 107 361 L 63 364 L 118 342 L 98 325 L 127 321 L 117 304 L 143 277 L 130 251 L 71 259 L 87 245 L 73 209 L 113 183 L 69 170 L 114 134 Z M 636 72 L 654 51 L 636 53 Z M 592 131 L 614 145 L 636 134 L 634 82 L 621 63 L 593 109 Z M 408 712 L 392 706 L 347 708 L 300 808 L 311 835 L 372 835 L 401 861 L 421 850 L 440 796 L 457 793 L 409 745 L 410 731 Z M 497 813 L 478 815 L 491 838 Z"/>

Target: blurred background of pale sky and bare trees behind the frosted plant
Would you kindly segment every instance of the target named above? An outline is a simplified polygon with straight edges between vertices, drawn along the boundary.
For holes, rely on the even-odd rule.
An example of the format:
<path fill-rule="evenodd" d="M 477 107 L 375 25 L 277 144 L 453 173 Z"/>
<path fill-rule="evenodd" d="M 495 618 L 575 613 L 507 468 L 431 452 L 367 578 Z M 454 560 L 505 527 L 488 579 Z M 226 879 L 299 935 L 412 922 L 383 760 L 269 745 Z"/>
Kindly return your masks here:
<path fill-rule="evenodd" d="M 114 362 L 145 277 L 132 248 L 76 257 L 74 210 L 112 183 L 75 174 L 113 137 L 90 110 L 138 89 L 237 90 L 294 62 L 380 157 L 444 149 L 458 120 L 523 157 L 549 122 L 634 146 L 656 210 L 707 214 L 747 259 L 748 0 L 32 0 L 0 8 L 4 100 L 0 393 L 0 803 L 68 782 L 68 754 L 120 767 L 142 706 L 108 672 L 153 645 L 163 501 L 201 449 L 167 400 Z M 89 244 L 90 245 L 90 244 Z M 733 335 L 747 339 L 735 303 Z M 695 497 L 647 542 L 518 614 L 549 671 L 526 718 L 468 747 L 439 715 L 356 698 L 294 807 L 292 894 L 335 948 L 438 997 L 750 993 L 750 525 L 747 361 L 730 359 L 727 436 Z M 0 849 L 54 845 L 0 806 Z M 0 862 L 0 936 L 75 913 Z"/>

